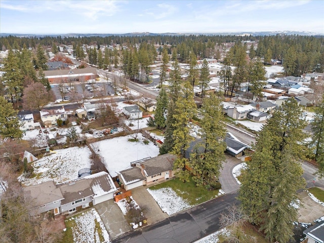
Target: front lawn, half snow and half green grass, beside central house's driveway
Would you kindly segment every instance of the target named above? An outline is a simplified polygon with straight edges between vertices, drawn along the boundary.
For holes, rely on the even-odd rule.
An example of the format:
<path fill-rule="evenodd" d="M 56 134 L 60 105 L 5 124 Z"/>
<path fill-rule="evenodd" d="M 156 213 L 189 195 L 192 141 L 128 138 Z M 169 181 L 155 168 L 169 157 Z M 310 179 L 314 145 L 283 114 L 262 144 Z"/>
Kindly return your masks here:
<path fill-rule="evenodd" d="M 152 186 L 147 191 L 152 195 L 161 210 L 168 215 L 178 213 L 224 194 L 221 189 L 209 191 L 205 187 L 195 186 L 192 180 L 183 183 L 179 179 Z"/>

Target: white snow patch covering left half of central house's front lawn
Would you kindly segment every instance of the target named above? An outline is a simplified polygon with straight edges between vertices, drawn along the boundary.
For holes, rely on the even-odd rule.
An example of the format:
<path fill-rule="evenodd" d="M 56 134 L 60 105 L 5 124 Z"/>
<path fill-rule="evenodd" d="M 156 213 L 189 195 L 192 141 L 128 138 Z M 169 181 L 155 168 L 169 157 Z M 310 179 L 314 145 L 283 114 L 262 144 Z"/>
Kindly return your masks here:
<path fill-rule="evenodd" d="M 191 207 L 186 200 L 178 196 L 170 187 L 157 190 L 147 188 L 146 190 L 152 195 L 161 210 L 168 215 L 178 213 Z"/>

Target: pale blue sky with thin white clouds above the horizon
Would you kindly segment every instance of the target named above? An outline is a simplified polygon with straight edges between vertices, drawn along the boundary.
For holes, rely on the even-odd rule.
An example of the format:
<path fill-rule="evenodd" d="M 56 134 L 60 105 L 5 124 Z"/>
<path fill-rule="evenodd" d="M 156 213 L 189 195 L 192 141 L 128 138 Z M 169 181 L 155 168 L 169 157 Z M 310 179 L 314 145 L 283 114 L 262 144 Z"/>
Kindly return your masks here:
<path fill-rule="evenodd" d="M 3 1 L 1 33 L 324 33 L 324 1 Z"/>

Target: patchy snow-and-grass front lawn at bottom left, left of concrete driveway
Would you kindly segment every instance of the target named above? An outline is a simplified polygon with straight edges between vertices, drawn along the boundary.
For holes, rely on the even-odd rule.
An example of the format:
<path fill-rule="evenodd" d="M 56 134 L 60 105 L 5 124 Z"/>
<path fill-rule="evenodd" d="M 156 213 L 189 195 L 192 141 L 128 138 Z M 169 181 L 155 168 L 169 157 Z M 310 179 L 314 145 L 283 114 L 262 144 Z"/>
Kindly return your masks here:
<path fill-rule="evenodd" d="M 65 225 L 65 234 L 72 234 L 75 243 L 110 242 L 105 225 L 95 209 L 65 220 Z"/>

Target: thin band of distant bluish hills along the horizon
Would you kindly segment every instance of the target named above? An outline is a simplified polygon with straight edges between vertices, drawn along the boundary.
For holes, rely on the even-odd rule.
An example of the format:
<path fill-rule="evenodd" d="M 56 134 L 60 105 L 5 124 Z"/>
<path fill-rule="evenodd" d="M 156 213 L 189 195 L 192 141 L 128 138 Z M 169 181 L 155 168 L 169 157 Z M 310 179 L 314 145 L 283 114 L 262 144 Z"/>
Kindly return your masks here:
<path fill-rule="evenodd" d="M 124 34 L 117 34 L 117 33 L 68 33 L 68 34 L 19 34 L 19 33 L 0 33 L 0 36 L 8 36 L 14 35 L 18 37 L 44 37 L 44 36 L 66 36 L 66 37 L 87 37 L 87 36 L 156 36 L 156 35 L 324 35 L 324 33 L 314 33 L 314 32 L 307 32 L 307 31 L 258 31 L 258 32 L 215 32 L 215 33 L 150 33 L 150 32 L 132 32 L 132 33 L 124 33 Z"/>

